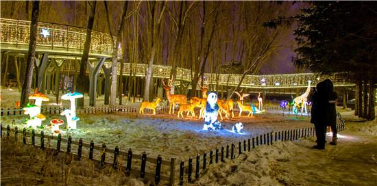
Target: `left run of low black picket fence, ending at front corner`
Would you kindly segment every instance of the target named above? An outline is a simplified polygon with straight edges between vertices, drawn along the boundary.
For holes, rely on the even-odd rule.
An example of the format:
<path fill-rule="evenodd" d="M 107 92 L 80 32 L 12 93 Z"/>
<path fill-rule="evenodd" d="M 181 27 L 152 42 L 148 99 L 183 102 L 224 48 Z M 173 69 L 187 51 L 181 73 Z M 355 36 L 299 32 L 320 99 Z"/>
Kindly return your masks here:
<path fill-rule="evenodd" d="M 5 137 L 7 138 L 9 138 L 11 134 L 13 134 L 14 138 L 18 141 L 19 135 L 22 135 L 23 144 L 35 146 L 42 150 L 53 150 L 54 155 L 57 155 L 60 152 L 65 152 L 67 155 L 73 155 L 76 160 L 80 161 L 80 159 L 84 157 L 83 152 L 87 150 L 88 157 L 86 158 L 97 162 L 99 168 L 104 168 L 105 165 L 111 165 L 114 169 L 125 170 L 125 174 L 127 175 L 132 174 L 139 178 L 147 178 L 151 181 L 154 180 L 154 183 L 156 183 L 156 185 L 158 185 L 158 183 L 160 182 L 165 182 L 168 185 L 174 185 L 175 158 L 171 158 L 170 161 L 166 161 L 163 160 L 160 155 L 158 155 L 157 158 L 147 157 L 147 154 L 145 154 L 145 152 L 143 152 L 142 155 L 136 155 L 132 152 L 131 149 L 129 149 L 127 152 L 123 152 L 119 149 L 118 146 L 116 146 L 114 149 L 107 148 L 106 144 L 97 146 L 93 141 L 91 141 L 89 144 L 83 142 L 82 138 L 80 138 L 77 142 L 72 140 L 71 135 L 68 137 L 68 139 L 64 139 L 60 134 L 58 136 L 45 135 L 43 131 L 36 133 L 34 129 L 32 129 L 32 131 L 27 131 L 27 129 L 25 128 L 23 128 L 23 130 L 19 130 L 17 127 L 10 129 L 9 125 L 5 128 L 1 124 L 1 138 L 3 137 L 3 131 L 5 131 Z M 37 139 L 38 137 L 39 140 Z M 49 147 L 52 140 L 56 142 L 55 148 Z M 46 143 L 46 141 L 48 142 Z M 62 150 L 64 143 L 66 144 L 65 151 Z M 77 149 L 73 150 L 73 146 L 76 146 Z M 106 157 L 110 157 L 109 155 L 112 155 L 112 160 L 109 158 L 106 159 Z M 99 157 L 99 159 L 96 159 L 95 157 Z M 122 165 L 120 160 L 125 161 L 124 165 Z M 139 168 L 136 168 L 137 165 L 134 165 L 134 163 L 136 163 L 135 161 L 140 162 Z M 155 170 L 146 170 L 147 163 L 151 163 L 151 165 L 155 167 Z M 169 166 L 169 175 L 161 174 L 162 165 Z"/>

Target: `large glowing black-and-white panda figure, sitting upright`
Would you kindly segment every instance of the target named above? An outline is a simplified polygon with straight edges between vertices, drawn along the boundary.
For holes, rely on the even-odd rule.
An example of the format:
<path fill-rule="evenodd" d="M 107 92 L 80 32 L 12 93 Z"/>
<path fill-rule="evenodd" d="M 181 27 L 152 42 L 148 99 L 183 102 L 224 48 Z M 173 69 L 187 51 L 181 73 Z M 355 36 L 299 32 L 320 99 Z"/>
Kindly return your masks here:
<path fill-rule="evenodd" d="M 217 94 L 212 92 L 208 94 L 206 110 L 204 110 L 204 126 L 205 131 L 215 131 L 223 129 L 221 123 L 217 120 L 219 114 L 219 105 L 217 105 Z"/>

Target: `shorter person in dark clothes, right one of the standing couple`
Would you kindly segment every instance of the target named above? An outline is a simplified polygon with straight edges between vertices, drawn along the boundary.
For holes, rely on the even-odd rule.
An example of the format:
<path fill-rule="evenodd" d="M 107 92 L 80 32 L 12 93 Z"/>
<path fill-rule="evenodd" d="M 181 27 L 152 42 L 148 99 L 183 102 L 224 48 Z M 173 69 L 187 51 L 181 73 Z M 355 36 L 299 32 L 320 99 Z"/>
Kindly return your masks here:
<path fill-rule="evenodd" d="M 325 107 L 325 122 L 326 126 L 331 127 L 332 142 L 331 145 L 337 145 L 337 98 L 338 95 L 334 92 L 334 85 L 330 79 L 323 81 L 326 90 L 326 107 Z"/>

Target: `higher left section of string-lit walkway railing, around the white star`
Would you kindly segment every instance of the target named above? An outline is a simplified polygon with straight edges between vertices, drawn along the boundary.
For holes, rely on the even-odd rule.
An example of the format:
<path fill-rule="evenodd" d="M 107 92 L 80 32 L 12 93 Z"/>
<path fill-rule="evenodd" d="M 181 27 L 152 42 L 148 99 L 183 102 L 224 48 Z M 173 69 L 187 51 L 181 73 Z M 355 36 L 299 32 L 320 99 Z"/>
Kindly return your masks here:
<path fill-rule="evenodd" d="M 0 40 L 2 44 L 16 44 L 16 47 L 29 44 L 30 21 L 0 18 Z M 42 29 L 47 29 L 49 36 L 42 36 Z M 54 23 L 38 23 L 36 44 L 51 50 L 83 50 L 86 29 Z M 110 55 L 112 44 L 109 34 L 92 31 L 90 53 Z"/>

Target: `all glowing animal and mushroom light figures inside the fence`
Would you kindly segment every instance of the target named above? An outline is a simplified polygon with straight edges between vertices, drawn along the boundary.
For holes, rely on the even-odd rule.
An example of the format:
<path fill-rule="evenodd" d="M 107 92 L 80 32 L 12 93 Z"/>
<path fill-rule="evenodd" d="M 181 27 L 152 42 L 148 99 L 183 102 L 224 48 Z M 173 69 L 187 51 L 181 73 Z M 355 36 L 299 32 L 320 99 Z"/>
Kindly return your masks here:
<path fill-rule="evenodd" d="M 234 118 L 234 102 L 232 101 L 232 99 L 223 101 L 217 97 L 217 93 L 208 93 L 208 81 L 202 83 L 202 80 L 199 79 L 198 84 L 202 84 L 200 86 L 202 91 L 202 98 L 193 97 L 191 98 L 189 103 L 187 103 L 186 95 L 171 94 L 170 91 L 173 83 L 174 82 L 169 79 L 169 83 L 168 85 L 166 85 L 164 78 L 162 78 L 162 85 L 163 88 L 166 90 L 167 100 L 169 101 L 169 114 L 174 114 L 175 105 L 180 105 L 180 108 L 178 110 L 178 118 L 180 118 L 180 116 L 184 118 L 184 112 L 186 112 L 186 116 L 189 116 L 189 114 L 191 114 L 191 116 L 195 117 L 194 109 L 195 107 L 198 107 L 200 109 L 199 119 L 204 118 L 203 130 L 205 131 L 215 131 L 223 129 L 221 127 L 221 123 L 217 120 L 218 115 L 220 115 L 221 120 L 223 120 L 223 114 L 225 114 L 226 118 Z M 305 110 L 305 113 L 307 113 L 306 105 L 311 105 L 311 103 L 307 100 L 307 96 L 310 90 L 311 81 L 308 81 L 308 88 L 306 89 L 306 92 L 304 92 L 304 94 L 294 98 L 291 104 L 289 104 L 288 101 L 282 101 L 280 103 L 280 107 L 285 108 L 289 105 L 293 105 L 293 113 L 297 114 L 297 107 L 301 107 L 301 112 Z M 260 97 L 260 92 L 258 93 L 258 108 L 254 107 L 252 103 L 250 105 L 243 105 L 244 98 L 246 96 L 249 96 L 250 94 L 241 95 L 239 92 L 234 93 L 236 93 L 236 95 L 239 96 L 239 100 L 236 101 L 239 107 L 239 117 L 241 117 L 243 111 L 248 112 L 247 117 L 253 117 L 253 114 L 259 114 L 265 111 L 263 109 L 263 99 Z M 75 99 L 82 97 L 83 95 L 78 92 L 69 92 L 62 96 L 62 100 L 69 100 L 71 102 L 71 108 L 65 109 L 60 114 L 62 116 L 66 116 L 67 129 L 77 129 L 76 123 L 78 120 L 80 120 L 80 118 L 76 116 Z M 26 127 L 36 129 L 36 127 L 41 127 L 42 120 L 46 120 L 46 117 L 40 114 L 40 110 L 42 101 L 49 101 L 49 98 L 47 98 L 45 94 L 38 92 L 38 88 L 36 88 L 34 94 L 31 94 L 29 96 L 29 99 L 34 99 L 35 103 L 34 105 L 27 104 L 27 106 L 23 108 L 23 110 L 25 111 L 24 114 L 29 115 L 29 119 L 27 119 L 25 123 Z M 139 114 L 144 114 L 144 109 L 152 109 L 153 114 L 156 115 L 156 107 L 158 107 L 158 104 L 161 101 L 162 100 L 160 98 L 156 98 L 156 101 L 154 102 L 143 101 L 139 109 Z M 54 135 L 60 133 L 59 126 L 63 123 L 64 121 L 58 118 L 51 120 L 51 133 L 53 133 Z M 234 133 L 241 133 L 242 129 L 243 124 L 241 122 L 236 122 L 236 124 L 234 124 L 232 127 L 232 131 Z"/>

